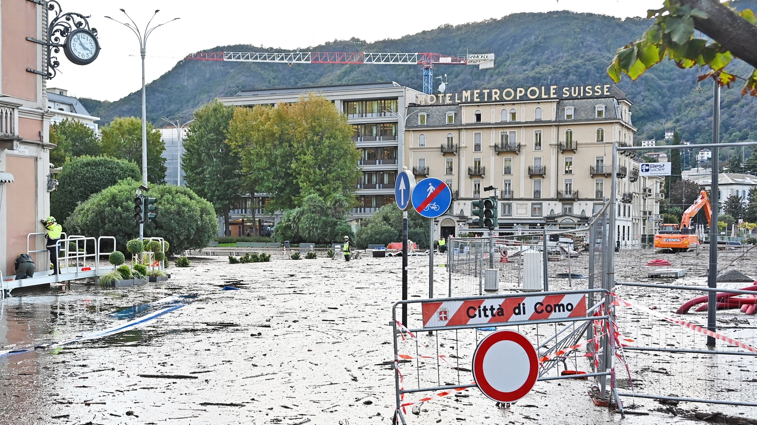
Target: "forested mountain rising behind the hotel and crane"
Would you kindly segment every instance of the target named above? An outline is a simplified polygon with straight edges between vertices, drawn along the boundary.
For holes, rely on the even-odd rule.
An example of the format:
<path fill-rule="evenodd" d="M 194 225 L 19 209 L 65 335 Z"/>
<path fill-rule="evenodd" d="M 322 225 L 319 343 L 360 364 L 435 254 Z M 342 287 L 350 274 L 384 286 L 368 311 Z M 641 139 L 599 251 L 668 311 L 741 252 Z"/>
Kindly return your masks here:
<path fill-rule="evenodd" d="M 662 0 L 661 0 L 662 4 Z M 757 11 L 757 1 L 731 2 Z M 494 53 L 491 70 L 441 65 L 434 73 L 446 73 L 448 92 L 469 88 L 504 88 L 531 85 L 587 85 L 612 82 L 606 68 L 617 48 L 637 39 L 651 20 L 621 20 L 597 14 L 568 11 L 512 14 L 458 26 L 440 26 L 401 39 L 367 44 L 359 39 L 327 42 L 302 51 L 433 51 L 441 54 Z M 284 51 L 252 45 L 228 45 L 208 51 Z M 749 67 L 734 62 L 729 69 L 740 76 Z M 712 82 L 697 90 L 696 69 L 681 70 L 671 61 L 647 71 L 636 82 L 625 77 L 618 86 L 634 102 L 633 122 L 637 140 L 664 136 L 676 129 L 682 140 L 712 140 Z M 202 104 L 242 89 L 396 81 L 420 89 L 422 68 L 416 65 L 254 64 L 181 60 L 172 70 L 147 86 L 148 119 L 159 124 L 161 116 L 191 116 Z M 721 140 L 757 139 L 757 99 L 742 97 L 742 81 L 722 92 Z M 116 116 L 139 116 L 140 92 L 119 101 L 82 99 L 103 123 Z M 748 154 L 748 153 L 747 153 Z"/>

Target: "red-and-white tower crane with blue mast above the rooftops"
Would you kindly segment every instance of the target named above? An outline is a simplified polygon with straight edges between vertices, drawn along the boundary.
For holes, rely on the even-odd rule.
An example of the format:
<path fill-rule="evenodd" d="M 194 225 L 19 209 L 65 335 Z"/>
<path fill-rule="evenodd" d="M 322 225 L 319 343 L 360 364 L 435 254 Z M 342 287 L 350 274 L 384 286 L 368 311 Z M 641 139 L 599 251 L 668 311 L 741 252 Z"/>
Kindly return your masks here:
<path fill-rule="evenodd" d="M 433 94 L 434 65 L 478 65 L 479 70 L 494 68 L 494 53 L 449 56 L 438 53 L 369 53 L 293 51 L 287 53 L 250 51 L 209 51 L 190 54 L 186 60 L 223 60 L 224 62 L 268 62 L 276 64 L 373 64 L 422 65 L 423 93 Z"/>

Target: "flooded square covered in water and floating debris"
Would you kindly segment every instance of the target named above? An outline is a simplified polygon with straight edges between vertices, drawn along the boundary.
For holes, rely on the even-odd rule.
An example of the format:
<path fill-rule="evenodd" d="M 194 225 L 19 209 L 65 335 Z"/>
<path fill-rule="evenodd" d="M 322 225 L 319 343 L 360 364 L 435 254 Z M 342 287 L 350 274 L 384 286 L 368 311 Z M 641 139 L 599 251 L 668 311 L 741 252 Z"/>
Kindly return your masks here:
<path fill-rule="evenodd" d="M 625 254 L 616 260 L 618 280 L 647 282 L 646 268 L 640 263 L 653 258 L 690 268 L 687 278 L 656 281 L 701 285 L 706 279 L 701 277 L 706 256 L 660 256 L 641 250 Z M 724 253 L 721 263 L 739 254 Z M 172 278 L 160 283 L 107 290 L 73 284 L 65 293 L 14 291 L 2 302 L 0 352 L 39 349 L 0 356 L 0 423 L 391 423 L 390 321 L 391 305 L 400 299 L 401 261 L 343 262 L 322 257 L 294 261 L 275 253 L 271 262 L 231 265 L 225 257 L 195 258 L 189 268 L 170 268 Z M 751 253 L 738 263 L 752 277 L 757 275 L 755 264 L 757 256 Z M 437 268 L 435 273 L 444 287 L 446 271 Z M 552 289 L 567 289 L 559 287 L 559 280 L 553 284 Z M 427 293 L 428 257 L 411 257 L 410 295 Z M 623 288 L 622 294 L 666 314 L 684 298 L 640 288 Z M 721 319 L 730 327 L 738 324 L 745 342 L 755 343 L 755 316 L 729 312 Z M 702 340 L 673 327 L 658 330 L 653 325 L 659 320 L 648 315 L 618 311 L 621 314 L 619 326 L 633 333 L 629 337 L 634 345 L 644 343 L 645 333 L 663 346 L 696 346 Z M 706 313 L 693 318 L 699 320 L 702 314 Z M 155 317 L 123 331 L 83 339 L 150 315 Z M 419 339 L 431 343 L 427 335 Z M 48 346 L 62 342 L 67 343 Z M 755 400 L 755 384 L 744 382 L 755 378 L 752 358 L 721 356 L 695 369 L 690 365 L 693 356 L 679 355 L 678 361 L 662 364 L 656 363 L 661 359 L 656 354 L 629 355 L 631 376 L 644 392 L 684 396 L 687 387 L 701 386 L 702 396 L 712 396 L 706 389 L 711 386 L 712 391 L 729 392 L 731 399 Z M 579 368 L 586 370 L 588 360 L 581 361 Z M 726 362 L 734 363 L 734 371 L 743 376 L 729 377 Z M 678 389 L 658 388 L 671 385 L 662 380 L 668 375 L 678 380 Z M 724 381 L 715 385 L 715 379 Z M 702 423 L 693 419 L 695 411 L 757 417 L 757 409 L 750 407 L 674 406 L 624 398 L 626 408 L 637 414 L 621 420 L 619 414 L 593 405 L 587 396 L 590 385 L 590 380 L 538 382 L 507 409 L 498 408 L 478 389 L 468 389 L 426 402 L 415 411 L 408 407 L 407 420 L 501 425 Z"/>

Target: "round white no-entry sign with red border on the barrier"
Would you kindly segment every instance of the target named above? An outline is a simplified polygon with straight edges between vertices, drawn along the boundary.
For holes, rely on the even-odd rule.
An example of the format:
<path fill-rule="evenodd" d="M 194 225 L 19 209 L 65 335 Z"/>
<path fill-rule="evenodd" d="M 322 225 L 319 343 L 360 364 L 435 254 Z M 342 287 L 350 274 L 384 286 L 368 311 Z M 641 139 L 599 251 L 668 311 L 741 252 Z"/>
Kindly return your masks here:
<path fill-rule="evenodd" d="M 495 402 L 521 399 L 534 387 L 538 372 L 534 345 L 514 330 L 490 333 L 473 353 L 473 380 Z"/>

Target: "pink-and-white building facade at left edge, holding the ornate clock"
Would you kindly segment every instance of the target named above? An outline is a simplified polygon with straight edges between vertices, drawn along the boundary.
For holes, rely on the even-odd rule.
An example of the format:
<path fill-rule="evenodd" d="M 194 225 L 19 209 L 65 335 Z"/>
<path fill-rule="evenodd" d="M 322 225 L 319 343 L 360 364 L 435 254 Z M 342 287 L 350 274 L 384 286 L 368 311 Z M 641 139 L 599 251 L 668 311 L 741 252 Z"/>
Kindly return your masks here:
<path fill-rule="evenodd" d="M 46 39 L 47 11 L 39 2 L 13 0 L 0 5 L 0 271 L 14 275 L 14 260 L 26 253 L 27 236 L 42 232 L 50 211 L 46 51 L 28 40 Z M 29 250 L 45 250 L 30 237 Z M 35 258 L 37 270 L 48 269 Z"/>

